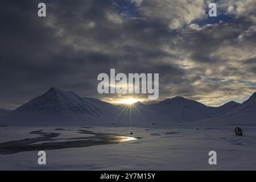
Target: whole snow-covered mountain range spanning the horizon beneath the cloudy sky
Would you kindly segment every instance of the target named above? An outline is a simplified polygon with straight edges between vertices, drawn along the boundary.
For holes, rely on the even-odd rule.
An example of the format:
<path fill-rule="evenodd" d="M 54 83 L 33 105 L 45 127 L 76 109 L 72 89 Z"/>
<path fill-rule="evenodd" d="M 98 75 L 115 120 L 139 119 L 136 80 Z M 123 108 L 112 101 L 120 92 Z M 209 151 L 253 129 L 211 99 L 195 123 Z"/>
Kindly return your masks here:
<path fill-rule="evenodd" d="M 232 101 L 220 107 L 208 107 L 183 97 L 168 98 L 151 105 L 137 102 L 133 105 L 115 106 L 96 98 L 80 97 L 71 91 L 53 87 L 1 117 L 0 123 L 24 126 L 110 123 L 144 125 L 207 119 L 225 122 L 247 118 L 251 121 L 255 116 L 256 93 L 242 104 Z"/>

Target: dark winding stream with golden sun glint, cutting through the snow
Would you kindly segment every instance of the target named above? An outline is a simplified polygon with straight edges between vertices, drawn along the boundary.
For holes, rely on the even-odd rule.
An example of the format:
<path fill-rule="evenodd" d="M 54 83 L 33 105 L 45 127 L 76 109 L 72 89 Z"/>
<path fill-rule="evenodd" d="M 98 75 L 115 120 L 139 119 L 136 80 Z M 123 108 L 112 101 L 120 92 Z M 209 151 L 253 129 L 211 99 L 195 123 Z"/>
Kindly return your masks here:
<path fill-rule="evenodd" d="M 60 130 L 60 129 L 59 129 Z M 63 130 L 63 129 L 62 129 Z M 137 140 L 140 137 L 118 136 L 115 134 L 94 133 L 93 131 L 79 130 L 77 133 L 90 134 L 88 137 L 57 138 L 59 133 L 48 133 L 44 130 L 31 131 L 30 134 L 38 134 L 40 137 L 17 140 L 13 142 L 0 143 L 0 155 L 14 154 L 24 151 L 56 150 L 63 148 L 89 147 L 100 144 L 117 144 L 130 140 Z M 72 137 L 72 136 L 71 136 Z"/>

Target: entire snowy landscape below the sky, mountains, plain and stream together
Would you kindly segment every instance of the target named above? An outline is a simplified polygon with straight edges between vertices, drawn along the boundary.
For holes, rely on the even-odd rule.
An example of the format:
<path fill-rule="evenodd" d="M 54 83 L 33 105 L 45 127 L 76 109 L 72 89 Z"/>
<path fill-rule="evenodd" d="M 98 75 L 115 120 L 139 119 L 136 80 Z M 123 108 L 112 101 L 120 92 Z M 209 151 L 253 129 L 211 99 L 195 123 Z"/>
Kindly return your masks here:
<path fill-rule="evenodd" d="M 115 106 L 51 88 L 0 123 L 2 170 L 256 170 L 256 93 L 220 107 L 183 97 Z"/>

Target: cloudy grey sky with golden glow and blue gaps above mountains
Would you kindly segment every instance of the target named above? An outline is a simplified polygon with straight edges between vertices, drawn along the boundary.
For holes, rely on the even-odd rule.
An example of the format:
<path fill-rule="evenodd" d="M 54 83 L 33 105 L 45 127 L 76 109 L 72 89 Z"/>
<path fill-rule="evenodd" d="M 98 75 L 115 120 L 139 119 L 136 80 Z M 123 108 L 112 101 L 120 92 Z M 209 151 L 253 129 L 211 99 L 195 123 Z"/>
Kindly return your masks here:
<path fill-rule="evenodd" d="M 208 16 L 210 2 L 217 17 Z M 208 106 L 256 92 L 255 0 L 3 0 L 0 22 L 3 109 L 52 86 L 108 102 L 181 96 Z M 158 100 L 99 94 L 97 76 L 110 68 L 159 73 Z"/>

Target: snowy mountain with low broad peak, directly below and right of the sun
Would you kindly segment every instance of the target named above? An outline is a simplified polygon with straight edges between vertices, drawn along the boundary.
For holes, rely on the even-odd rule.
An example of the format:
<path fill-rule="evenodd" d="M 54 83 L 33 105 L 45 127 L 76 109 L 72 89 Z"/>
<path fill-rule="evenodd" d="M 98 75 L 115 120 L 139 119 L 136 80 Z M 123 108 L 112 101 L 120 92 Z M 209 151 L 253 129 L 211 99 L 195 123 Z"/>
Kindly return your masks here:
<path fill-rule="evenodd" d="M 132 122 L 171 123 L 179 121 L 195 121 L 215 117 L 216 111 L 209 107 L 183 97 L 168 98 L 158 104 L 144 105 L 141 102 L 133 106 L 119 106 L 118 118 Z"/>

